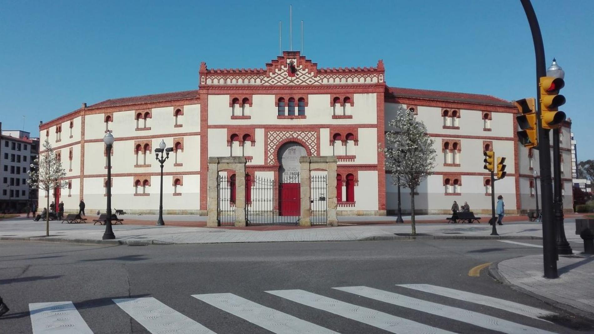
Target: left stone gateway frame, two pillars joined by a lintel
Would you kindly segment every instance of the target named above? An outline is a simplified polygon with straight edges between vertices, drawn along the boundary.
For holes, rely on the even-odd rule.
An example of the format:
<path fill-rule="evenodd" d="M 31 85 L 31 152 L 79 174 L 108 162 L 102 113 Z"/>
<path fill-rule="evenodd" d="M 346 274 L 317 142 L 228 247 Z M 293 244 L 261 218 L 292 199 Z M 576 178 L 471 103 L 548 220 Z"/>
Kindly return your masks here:
<path fill-rule="evenodd" d="M 245 157 L 208 157 L 207 227 L 220 226 L 219 171 L 235 172 L 235 226 L 245 226 Z M 336 176 L 335 176 L 336 178 Z"/>

